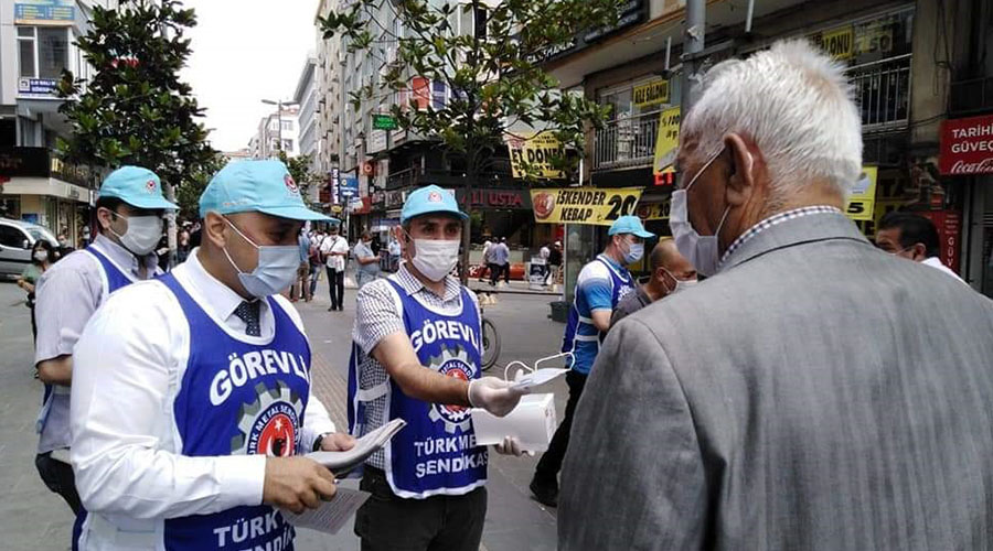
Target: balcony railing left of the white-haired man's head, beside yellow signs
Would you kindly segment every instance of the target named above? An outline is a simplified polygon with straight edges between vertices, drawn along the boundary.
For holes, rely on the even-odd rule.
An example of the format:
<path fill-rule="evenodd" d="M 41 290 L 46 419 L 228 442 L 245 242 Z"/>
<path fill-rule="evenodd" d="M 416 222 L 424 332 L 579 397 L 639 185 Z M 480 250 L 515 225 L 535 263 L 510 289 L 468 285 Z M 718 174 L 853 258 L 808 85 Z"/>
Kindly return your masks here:
<path fill-rule="evenodd" d="M 651 165 L 658 132 L 658 111 L 607 122 L 594 138 L 594 170 Z"/>

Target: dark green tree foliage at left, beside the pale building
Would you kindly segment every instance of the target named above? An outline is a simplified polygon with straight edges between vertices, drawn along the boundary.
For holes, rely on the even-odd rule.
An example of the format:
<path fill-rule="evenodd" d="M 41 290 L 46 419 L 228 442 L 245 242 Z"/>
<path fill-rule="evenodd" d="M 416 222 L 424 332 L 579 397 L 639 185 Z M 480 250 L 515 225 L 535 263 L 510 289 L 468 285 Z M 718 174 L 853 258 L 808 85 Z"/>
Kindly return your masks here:
<path fill-rule="evenodd" d="M 58 84 L 60 111 L 73 127 L 58 149 L 70 161 L 145 166 L 180 188 L 211 173 L 216 152 L 197 121 L 203 109 L 179 79 L 191 52 L 183 33 L 195 24 L 175 0 L 94 7 L 92 29 L 76 42 L 94 76 L 86 83 L 65 72 Z"/>

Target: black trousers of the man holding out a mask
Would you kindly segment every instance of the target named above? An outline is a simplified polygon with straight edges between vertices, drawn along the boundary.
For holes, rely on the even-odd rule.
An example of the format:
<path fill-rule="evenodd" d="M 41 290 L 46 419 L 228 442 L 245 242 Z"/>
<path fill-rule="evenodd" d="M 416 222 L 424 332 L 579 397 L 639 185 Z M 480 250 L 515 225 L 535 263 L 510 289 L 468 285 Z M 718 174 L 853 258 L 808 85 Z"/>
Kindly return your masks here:
<path fill-rule="evenodd" d="M 355 514 L 362 551 L 478 551 L 487 488 L 462 496 L 397 497 L 384 473 L 366 466 L 359 488 L 372 494 Z"/>

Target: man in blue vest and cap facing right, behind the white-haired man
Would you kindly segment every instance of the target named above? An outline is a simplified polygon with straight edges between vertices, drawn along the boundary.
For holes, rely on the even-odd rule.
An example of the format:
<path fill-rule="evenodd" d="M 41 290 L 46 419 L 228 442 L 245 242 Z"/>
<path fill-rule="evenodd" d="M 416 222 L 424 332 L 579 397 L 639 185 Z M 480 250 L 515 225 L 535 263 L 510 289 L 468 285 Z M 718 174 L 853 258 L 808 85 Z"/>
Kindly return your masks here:
<path fill-rule="evenodd" d="M 617 303 L 636 289 L 626 268 L 644 256 L 644 240 L 654 237 L 645 231 L 637 216 L 621 216 L 607 230 L 610 242 L 591 262 L 583 267 L 576 280 L 576 294 L 563 336 L 562 352 L 573 352 L 572 369 L 566 374 L 569 400 L 565 418 L 555 431 L 548 450 L 542 455 L 531 480 L 531 491 L 538 503 L 558 506 L 558 471 L 569 446 L 573 414 L 592 368 L 600 338 L 610 328 L 610 314 Z"/>

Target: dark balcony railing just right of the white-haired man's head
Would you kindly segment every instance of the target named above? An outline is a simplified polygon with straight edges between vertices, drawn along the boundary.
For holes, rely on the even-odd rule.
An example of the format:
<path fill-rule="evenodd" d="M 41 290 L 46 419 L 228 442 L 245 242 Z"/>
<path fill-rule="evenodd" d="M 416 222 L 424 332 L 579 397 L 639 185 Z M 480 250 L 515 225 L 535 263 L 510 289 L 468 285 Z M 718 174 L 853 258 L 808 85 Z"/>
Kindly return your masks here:
<path fill-rule="evenodd" d="M 846 72 L 855 87 L 865 133 L 898 130 L 910 117 L 910 54 L 856 65 Z"/>

